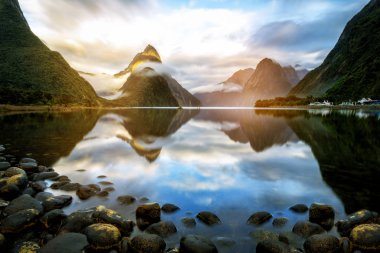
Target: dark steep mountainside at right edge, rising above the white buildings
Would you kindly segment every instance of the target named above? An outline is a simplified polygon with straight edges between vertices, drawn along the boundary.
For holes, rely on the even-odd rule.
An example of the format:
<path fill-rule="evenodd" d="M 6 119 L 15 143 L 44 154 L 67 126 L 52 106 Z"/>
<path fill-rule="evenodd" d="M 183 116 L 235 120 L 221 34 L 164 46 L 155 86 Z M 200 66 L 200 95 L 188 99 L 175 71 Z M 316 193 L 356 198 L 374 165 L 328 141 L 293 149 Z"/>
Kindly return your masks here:
<path fill-rule="evenodd" d="M 332 100 L 380 98 L 380 0 L 371 0 L 343 30 L 321 66 L 290 91 Z"/>

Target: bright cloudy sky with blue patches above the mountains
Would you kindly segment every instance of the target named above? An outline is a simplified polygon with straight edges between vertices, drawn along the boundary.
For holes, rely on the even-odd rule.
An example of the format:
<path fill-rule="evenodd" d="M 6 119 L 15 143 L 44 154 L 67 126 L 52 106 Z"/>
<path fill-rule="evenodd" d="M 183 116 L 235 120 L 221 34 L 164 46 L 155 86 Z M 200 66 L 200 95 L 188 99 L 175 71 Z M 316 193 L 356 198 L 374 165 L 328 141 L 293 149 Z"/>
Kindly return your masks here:
<path fill-rule="evenodd" d="M 265 57 L 317 67 L 369 0 L 19 2 L 32 31 L 73 68 L 114 74 L 151 44 L 173 77 L 194 90 Z M 95 89 L 125 81 L 104 76 L 90 80 Z"/>

